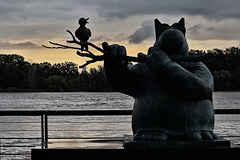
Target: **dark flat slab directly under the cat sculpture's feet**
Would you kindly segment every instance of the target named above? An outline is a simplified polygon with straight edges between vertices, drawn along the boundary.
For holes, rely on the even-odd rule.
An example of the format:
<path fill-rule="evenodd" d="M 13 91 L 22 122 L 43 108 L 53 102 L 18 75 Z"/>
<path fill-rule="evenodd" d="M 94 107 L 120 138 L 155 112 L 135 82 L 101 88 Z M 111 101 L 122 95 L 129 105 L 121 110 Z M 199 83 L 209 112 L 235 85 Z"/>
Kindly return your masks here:
<path fill-rule="evenodd" d="M 231 142 L 225 139 L 214 141 L 134 141 L 132 136 L 125 136 L 124 149 L 155 150 L 155 149 L 219 149 L 230 148 Z"/>

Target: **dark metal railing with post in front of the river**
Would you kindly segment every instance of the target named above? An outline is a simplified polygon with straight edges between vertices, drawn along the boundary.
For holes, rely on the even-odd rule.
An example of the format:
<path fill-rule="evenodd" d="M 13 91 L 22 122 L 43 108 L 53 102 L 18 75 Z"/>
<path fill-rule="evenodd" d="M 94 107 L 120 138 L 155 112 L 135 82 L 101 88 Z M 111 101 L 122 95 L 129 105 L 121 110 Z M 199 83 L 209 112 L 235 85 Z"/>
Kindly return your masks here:
<path fill-rule="evenodd" d="M 41 148 L 48 148 L 48 118 L 49 116 L 129 116 L 132 110 L 5 110 L 0 111 L 0 117 L 4 116 L 39 116 L 41 123 L 41 136 L 33 139 L 41 139 Z M 215 114 L 240 114 L 240 109 L 215 109 Z M 7 122 L 6 122 L 7 123 Z M 0 154 L 4 145 L 1 144 L 0 137 Z M 6 137 L 4 139 L 7 139 Z M 22 139 L 25 139 L 24 137 Z M 29 138 L 28 138 L 29 139 Z M 11 146 L 9 146 L 11 147 Z M 21 146 L 31 147 L 31 146 Z M 0 155 L 1 157 L 1 155 Z"/>

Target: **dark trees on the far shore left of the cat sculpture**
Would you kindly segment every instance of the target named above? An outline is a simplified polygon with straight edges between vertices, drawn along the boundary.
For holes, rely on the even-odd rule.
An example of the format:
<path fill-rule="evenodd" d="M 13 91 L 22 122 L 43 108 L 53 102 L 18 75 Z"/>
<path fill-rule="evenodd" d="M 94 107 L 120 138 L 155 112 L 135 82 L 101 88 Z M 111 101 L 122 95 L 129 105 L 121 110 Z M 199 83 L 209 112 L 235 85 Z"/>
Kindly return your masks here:
<path fill-rule="evenodd" d="M 72 62 L 29 63 L 15 54 L 0 54 L 0 91 L 112 91 L 103 67 L 78 70 Z"/>

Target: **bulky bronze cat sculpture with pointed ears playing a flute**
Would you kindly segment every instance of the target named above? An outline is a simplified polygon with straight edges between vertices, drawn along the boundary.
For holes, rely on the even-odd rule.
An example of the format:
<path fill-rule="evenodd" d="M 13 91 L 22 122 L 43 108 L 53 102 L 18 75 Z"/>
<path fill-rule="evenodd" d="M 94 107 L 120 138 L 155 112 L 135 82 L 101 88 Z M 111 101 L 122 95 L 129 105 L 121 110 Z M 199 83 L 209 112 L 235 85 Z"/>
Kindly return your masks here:
<path fill-rule="evenodd" d="M 213 76 L 201 61 L 174 62 L 170 56 L 187 56 L 185 22 L 169 26 L 155 20 L 156 42 L 146 63 L 121 59 L 126 49 L 105 47 L 107 79 L 119 92 L 134 97 L 134 140 L 215 140 Z M 104 48 L 104 46 L 103 46 Z"/>

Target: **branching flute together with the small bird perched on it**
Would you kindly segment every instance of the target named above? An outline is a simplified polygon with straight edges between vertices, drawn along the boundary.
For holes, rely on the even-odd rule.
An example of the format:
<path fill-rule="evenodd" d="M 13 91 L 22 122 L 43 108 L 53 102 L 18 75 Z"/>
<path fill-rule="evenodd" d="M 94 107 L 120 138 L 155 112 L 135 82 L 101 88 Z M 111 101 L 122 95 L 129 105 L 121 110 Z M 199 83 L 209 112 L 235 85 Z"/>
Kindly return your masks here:
<path fill-rule="evenodd" d="M 102 48 L 101 48 L 91 42 L 88 42 L 88 39 L 91 37 L 91 31 L 90 31 L 90 29 L 88 29 L 86 27 L 86 24 L 88 23 L 87 22 L 88 19 L 89 18 L 86 18 L 86 19 L 80 18 L 79 19 L 80 27 L 75 31 L 75 36 L 70 30 L 67 30 L 67 32 L 71 35 L 72 39 L 67 40 L 66 42 L 71 43 L 71 44 L 77 44 L 81 47 L 69 46 L 69 45 L 64 45 L 64 44 L 51 42 L 51 41 L 49 41 L 49 43 L 52 44 L 53 46 L 46 46 L 46 45 L 42 45 L 42 46 L 45 48 L 49 48 L 49 49 L 74 49 L 74 50 L 77 50 L 78 56 L 87 57 L 87 58 L 91 59 L 91 60 L 88 60 L 83 65 L 79 66 L 79 68 L 84 68 L 87 65 L 95 63 L 97 61 L 104 61 L 104 54 L 107 52 L 109 45 L 107 42 L 103 42 Z M 158 27 L 158 25 L 159 25 L 159 23 L 157 21 L 155 21 L 155 27 Z M 79 41 L 75 37 L 78 38 Z M 90 47 L 94 48 L 95 50 L 97 50 L 98 52 L 103 53 L 103 55 L 95 55 L 94 53 L 90 52 L 88 50 L 88 45 Z M 80 52 L 79 50 L 84 51 L 84 52 Z M 143 53 L 139 53 L 138 55 L 141 55 L 141 56 L 138 56 L 138 57 L 124 56 L 121 58 L 123 58 L 124 60 L 129 61 L 129 62 L 145 63 L 146 62 L 145 58 L 147 56 L 144 56 Z M 184 56 L 184 57 L 182 57 L 182 56 L 176 57 L 175 56 L 175 57 L 171 57 L 171 59 L 176 62 L 180 62 L 180 61 L 198 62 L 198 61 L 201 61 L 202 59 L 204 59 L 204 57 L 206 57 L 206 56 Z"/>

